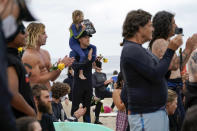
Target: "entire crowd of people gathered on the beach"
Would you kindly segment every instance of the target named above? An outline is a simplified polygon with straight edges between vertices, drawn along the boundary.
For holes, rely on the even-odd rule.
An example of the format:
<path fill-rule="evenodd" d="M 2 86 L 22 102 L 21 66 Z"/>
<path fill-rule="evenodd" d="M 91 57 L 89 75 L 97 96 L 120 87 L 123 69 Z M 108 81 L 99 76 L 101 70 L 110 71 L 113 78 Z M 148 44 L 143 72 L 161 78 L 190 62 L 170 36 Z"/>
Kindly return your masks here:
<path fill-rule="evenodd" d="M 24 0 L 0 0 L 0 126 L 7 131 L 54 131 L 53 122 L 95 124 L 104 98 L 117 107 L 117 131 L 197 130 L 197 34 L 186 41 L 176 34 L 175 15 L 159 11 L 130 11 L 123 23 L 120 72 L 107 79 L 101 57 L 80 10 L 72 13 L 69 45 L 72 51 L 51 63 L 45 25 L 36 21 Z M 151 20 L 152 19 L 152 20 Z M 91 24 L 93 27 L 93 24 Z M 142 44 L 149 42 L 149 48 Z M 23 47 L 23 51 L 19 48 Z M 183 69 L 188 65 L 188 73 Z M 62 67 L 63 66 L 63 67 Z M 68 77 L 55 82 L 68 67 Z M 92 72 L 95 69 L 95 72 Z M 113 92 L 107 89 L 112 84 Z M 65 97 L 68 95 L 68 98 Z M 66 100 L 65 100 L 66 99 Z M 61 102 L 72 101 L 71 114 Z M 69 116 L 69 117 L 68 117 Z"/>

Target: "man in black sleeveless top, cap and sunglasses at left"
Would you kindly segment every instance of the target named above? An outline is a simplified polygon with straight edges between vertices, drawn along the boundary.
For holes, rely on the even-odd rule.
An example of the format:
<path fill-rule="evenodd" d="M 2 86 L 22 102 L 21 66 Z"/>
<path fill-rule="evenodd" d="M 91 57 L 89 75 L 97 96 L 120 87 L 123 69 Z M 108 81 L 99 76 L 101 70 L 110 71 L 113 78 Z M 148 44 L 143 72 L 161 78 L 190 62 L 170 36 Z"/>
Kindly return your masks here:
<path fill-rule="evenodd" d="M 13 94 L 12 110 L 16 118 L 35 116 L 35 104 L 29 84 L 28 74 L 19 57 L 18 48 L 25 46 L 25 27 L 18 26 L 18 34 L 8 43 L 8 83 Z"/>

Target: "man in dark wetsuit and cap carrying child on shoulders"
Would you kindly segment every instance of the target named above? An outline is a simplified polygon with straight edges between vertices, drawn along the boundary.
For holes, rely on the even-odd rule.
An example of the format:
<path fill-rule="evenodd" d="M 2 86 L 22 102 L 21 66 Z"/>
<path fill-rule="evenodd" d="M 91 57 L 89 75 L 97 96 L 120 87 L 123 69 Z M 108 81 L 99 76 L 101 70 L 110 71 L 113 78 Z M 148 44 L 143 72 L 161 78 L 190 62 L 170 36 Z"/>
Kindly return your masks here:
<path fill-rule="evenodd" d="M 84 62 L 80 61 L 80 56 L 75 52 L 70 52 L 70 57 L 74 57 L 75 61 L 72 64 L 74 70 L 73 80 L 73 94 L 72 94 L 72 110 L 71 115 L 79 108 L 80 103 L 87 108 L 86 114 L 83 117 L 84 122 L 90 122 L 90 105 L 92 98 L 92 63 L 95 61 L 96 56 L 92 56 L 92 48 L 88 48 L 90 45 L 90 37 L 92 35 L 84 31 L 80 36 L 79 43 L 82 48 L 86 59 Z M 83 69 L 85 80 L 79 78 L 79 70 Z"/>

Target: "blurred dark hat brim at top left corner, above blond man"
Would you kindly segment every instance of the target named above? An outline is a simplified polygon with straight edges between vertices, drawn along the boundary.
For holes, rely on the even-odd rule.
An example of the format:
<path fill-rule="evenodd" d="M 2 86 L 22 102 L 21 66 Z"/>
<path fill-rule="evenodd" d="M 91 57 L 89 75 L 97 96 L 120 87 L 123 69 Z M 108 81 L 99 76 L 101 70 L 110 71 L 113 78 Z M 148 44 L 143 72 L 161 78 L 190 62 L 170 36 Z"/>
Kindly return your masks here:
<path fill-rule="evenodd" d="M 29 11 L 25 0 L 17 0 L 19 8 L 20 8 L 20 14 L 18 20 L 23 21 L 35 21 L 36 19 L 33 17 L 31 12 Z"/>

